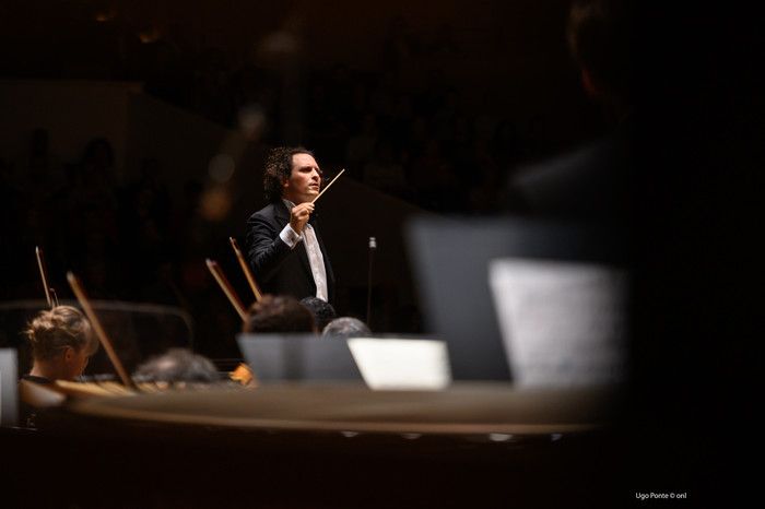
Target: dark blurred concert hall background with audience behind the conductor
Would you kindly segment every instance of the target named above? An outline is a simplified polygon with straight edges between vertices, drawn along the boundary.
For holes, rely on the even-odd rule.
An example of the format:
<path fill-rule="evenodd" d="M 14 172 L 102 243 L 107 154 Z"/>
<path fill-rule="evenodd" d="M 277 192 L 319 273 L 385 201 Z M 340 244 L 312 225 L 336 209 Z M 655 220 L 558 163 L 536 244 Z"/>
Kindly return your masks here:
<path fill-rule="evenodd" d="M 10 2 L 0 19 L 0 298 L 73 270 L 93 297 L 180 306 L 232 356 L 237 318 L 207 273 L 264 204 L 269 146 L 332 175 L 319 205 L 338 311 L 422 332 L 401 228 L 511 209 L 519 167 L 604 132 L 565 42 L 566 1 Z"/>

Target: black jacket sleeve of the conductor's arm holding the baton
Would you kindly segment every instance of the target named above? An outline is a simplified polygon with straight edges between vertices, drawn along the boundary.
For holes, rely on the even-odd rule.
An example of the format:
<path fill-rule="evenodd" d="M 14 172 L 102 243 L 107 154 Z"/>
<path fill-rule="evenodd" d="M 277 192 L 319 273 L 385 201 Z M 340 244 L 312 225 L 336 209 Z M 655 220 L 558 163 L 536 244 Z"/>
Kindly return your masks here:
<path fill-rule="evenodd" d="M 290 246 L 279 236 L 284 226 L 279 227 L 275 221 L 260 214 L 247 220 L 247 260 L 255 276 L 263 282 L 268 282 L 292 254 Z"/>

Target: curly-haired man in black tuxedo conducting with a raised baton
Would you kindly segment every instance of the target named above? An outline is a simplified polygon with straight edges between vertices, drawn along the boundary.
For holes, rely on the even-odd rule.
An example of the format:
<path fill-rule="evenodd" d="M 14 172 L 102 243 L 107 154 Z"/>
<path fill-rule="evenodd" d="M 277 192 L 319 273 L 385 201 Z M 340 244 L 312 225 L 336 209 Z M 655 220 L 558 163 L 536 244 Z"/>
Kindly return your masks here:
<path fill-rule="evenodd" d="M 247 258 L 263 292 L 334 298 L 334 274 L 315 223 L 322 173 L 303 147 L 276 147 L 266 163 L 269 204 L 247 221 Z"/>

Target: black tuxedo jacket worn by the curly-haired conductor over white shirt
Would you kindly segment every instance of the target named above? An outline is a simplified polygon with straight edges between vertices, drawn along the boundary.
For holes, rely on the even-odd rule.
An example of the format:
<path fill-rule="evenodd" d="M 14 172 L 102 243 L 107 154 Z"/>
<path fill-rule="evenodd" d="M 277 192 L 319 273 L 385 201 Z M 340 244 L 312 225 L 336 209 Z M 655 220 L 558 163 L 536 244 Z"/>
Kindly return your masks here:
<path fill-rule="evenodd" d="M 310 272 L 305 241 L 291 249 L 279 234 L 290 223 L 290 211 L 281 200 L 267 205 L 247 220 L 247 259 L 255 279 L 262 291 L 269 294 L 293 295 L 295 297 L 316 296 L 316 283 Z M 327 296 L 334 300 L 334 274 L 329 254 L 316 227 L 316 218 L 310 224 L 321 248 L 327 271 Z"/>

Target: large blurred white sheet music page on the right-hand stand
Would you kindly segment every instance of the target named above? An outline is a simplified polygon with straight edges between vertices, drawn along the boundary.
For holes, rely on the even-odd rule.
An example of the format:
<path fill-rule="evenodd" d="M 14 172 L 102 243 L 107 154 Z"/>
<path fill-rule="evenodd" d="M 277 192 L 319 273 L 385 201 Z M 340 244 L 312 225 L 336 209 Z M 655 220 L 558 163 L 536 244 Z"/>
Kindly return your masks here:
<path fill-rule="evenodd" d="M 508 258 L 490 262 L 489 279 L 516 384 L 623 381 L 625 271 L 592 263 Z"/>

